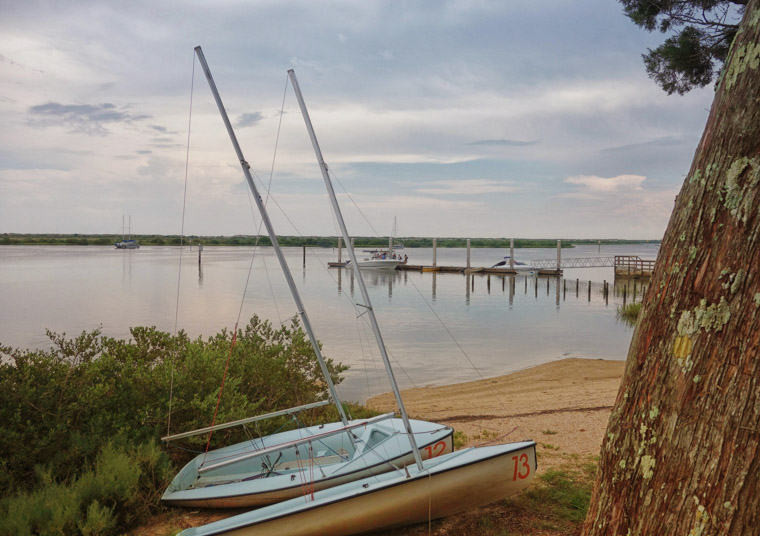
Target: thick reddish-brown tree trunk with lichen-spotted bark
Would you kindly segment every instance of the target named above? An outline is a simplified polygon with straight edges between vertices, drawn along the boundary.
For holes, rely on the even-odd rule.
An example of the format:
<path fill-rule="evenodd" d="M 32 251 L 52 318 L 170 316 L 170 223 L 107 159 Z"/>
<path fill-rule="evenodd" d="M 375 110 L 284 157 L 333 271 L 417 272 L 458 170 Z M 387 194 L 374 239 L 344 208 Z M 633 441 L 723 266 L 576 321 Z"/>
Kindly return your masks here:
<path fill-rule="evenodd" d="M 584 533 L 760 534 L 760 0 L 676 198 Z"/>

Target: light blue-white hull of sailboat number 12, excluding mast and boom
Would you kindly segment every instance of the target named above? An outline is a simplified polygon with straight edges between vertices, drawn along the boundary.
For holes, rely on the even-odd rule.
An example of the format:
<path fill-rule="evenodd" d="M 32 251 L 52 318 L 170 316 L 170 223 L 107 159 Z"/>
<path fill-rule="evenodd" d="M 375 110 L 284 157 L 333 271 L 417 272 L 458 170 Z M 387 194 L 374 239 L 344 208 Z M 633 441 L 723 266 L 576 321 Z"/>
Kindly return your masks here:
<path fill-rule="evenodd" d="M 424 458 L 453 450 L 452 428 L 418 420 L 412 420 L 411 425 Z M 264 439 L 266 446 L 270 447 L 329 432 L 340 426 L 341 423 L 330 423 L 281 432 Z M 378 436 L 378 433 L 381 435 Z M 266 458 L 254 456 L 205 472 L 201 469 L 204 466 L 255 454 L 262 448 L 262 442 L 246 441 L 211 451 L 208 455 L 201 454 L 179 472 L 161 500 L 165 504 L 187 508 L 259 507 L 301 496 L 307 480 L 315 490 L 322 490 L 414 462 L 401 419 L 368 425 L 357 436 L 356 451 L 353 451 L 354 446 L 347 433 L 342 433 L 314 440 L 311 454 L 308 445 L 299 445 L 297 458 L 295 449 L 288 447 L 270 452 Z M 262 471 L 263 461 L 270 467 L 274 465 L 274 470 L 269 473 Z"/>

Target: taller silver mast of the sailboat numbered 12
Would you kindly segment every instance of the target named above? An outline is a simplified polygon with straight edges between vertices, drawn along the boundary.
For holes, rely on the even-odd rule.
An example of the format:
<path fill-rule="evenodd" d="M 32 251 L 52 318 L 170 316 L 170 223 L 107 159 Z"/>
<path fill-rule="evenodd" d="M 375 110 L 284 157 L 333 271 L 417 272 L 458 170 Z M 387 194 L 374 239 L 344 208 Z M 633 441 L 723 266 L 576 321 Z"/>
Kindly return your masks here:
<path fill-rule="evenodd" d="M 251 176 L 251 166 L 248 164 L 248 162 L 246 162 L 245 157 L 243 157 L 243 151 L 240 149 L 240 144 L 237 141 L 235 132 L 232 130 L 230 118 L 227 116 L 227 111 L 224 109 L 222 98 L 219 96 L 219 92 L 216 89 L 216 84 L 214 83 L 214 79 L 211 77 L 211 71 L 208 68 L 206 58 L 203 55 L 203 50 L 201 50 L 200 46 L 195 47 L 195 53 L 198 56 L 201 67 L 203 67 L 203 73 L 206 75 L 206 80 L 208 80 L 208 85 L 211 88 L 211 93 L 214 95 L 216 106 L 219 108 L 219 113 L 222 115 L 224 126 L 227 127 L 227 133 L 230 135 L 230 141 L 232 141 L 232 146 L 235 148 L 235 153 L 237 154 L 238 160 L 240 161 L 240 166 L 243 168 L 243 174 L 245 175 L 245 180 L 248 182 L 248 187 L 253 193 L 253 199 L 256 202 L 256 207 L 259 209 L 261 219 L 264 222 L 264 226 L 267 228 L 267 233 L 269 234 L 269 239 L 272 242 L 272 247 L 274 248 L 275 254 L 277 255 L 277 260 L 280 262 L 280 267 L 282 268 L 282 273 L 285 275 L 285 280 L 288 282 L 288 287 L 290 287 L 290 293 L 293 295 L 293 301 L 296 304 L 296 309 L 298 309 L 298 315 L 301 317 L 303 327 L 306 330 L 306 333 L 309 335 L 311 346 L 314 349 L 314 353 L 317 356 L 317 361 L 319 361 L 319 366 L 322 369 L 322 375 L 325 377 L 325 382 L 327 382 L 327 388 L 330 391 L 330 396 L 335 403 L 335 407 L 338 409 L 340 420 L 344 425 L 348 425 L 348 419 L 346 418 L 346 414 L 343 411 L 343 404 L 341 403 L 340 397 L 338 396 L 338 392 L 335 390 L 335 384 L 333 384 L 332 378 L 330 378 L 330 371 L 327 369 L 327 364 L 325 363 L 325 359 L 322 356 L 322 350 L 319 348 L 319 341 L 317 341 L 317 338 L 314 335 L 314 331 L 311 328 L 311 321 L 309 320 L 309 316 L 306 314 L 306 309 L 304 309 L 303 302 L 301 301 L 301 295 L 298 293 L 298 289 L 296 288 L 295 281 L 293 280 L 293 276 L 290 273 L 288 263 L 285 262 L 285 255 L 283 255 L 282 249 L 280 249 L 280 243 L 277 241 L 277 235 L 275 234 L 274 227 L 272 227 L 272 222 L 269 219 L 269 213 L 264 206 L 264 202 L 261 200 L 259 191 L 256 188 L 256 183 L 253 182 L 253 177 Z"/>

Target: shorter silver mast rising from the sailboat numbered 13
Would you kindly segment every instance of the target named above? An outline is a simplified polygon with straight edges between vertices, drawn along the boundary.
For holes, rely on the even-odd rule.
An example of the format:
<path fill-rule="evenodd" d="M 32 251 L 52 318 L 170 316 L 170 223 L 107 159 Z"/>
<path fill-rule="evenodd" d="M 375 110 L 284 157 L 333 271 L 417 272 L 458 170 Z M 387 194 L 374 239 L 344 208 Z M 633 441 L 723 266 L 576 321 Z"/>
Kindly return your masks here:
<path fill-rule="evenodd" d="M 338 220 L 338 225 L 340 226 L 340 231 L 343 235 L 343 241 L 346 244 L 351 243 L 351 237 L 348 235 L 348 230 L 346 229 L 346 222 L 343 221 L 343 215 L 340 211 L 340 206 L 338 205 L 338 198 L 335 196 L 335 190 L 333 189 L 332 181 L 330 180 L 330 174 L 327 171 L 327 164 L 325 164 L 324 158 L 322 158 L 322 150 L 319 148 L 319 143 L 317 142 L 317 136 L 314 133 L 314 127 L 311 124 L 311 119 L 309 119 L 309 112 L 306 109 L 306 104 L 303 100 L 303 95 L 301 95 L 301 88 L 298 86 L 298 80 L 296 80 L 296 73 L 293 71 L 293 69 L 288 70 L 288 75 L 290 76 L 290 81 L 293 84 L 293 90 L 295 91 L 296 98 L 298 99 L 298 105 L 301 107 L 301 114 L 303 114 L 303 119 L 306 122 L 306 129 L 309 131 L 309 137 L 311 138 L 311 145 L 314 147 L 314 153 L 317 156 L 317 162 L 319 163 L 319 169 L 322 170 L 322 178 L 325 180 L 325 186 L 327 187 L 327 194 L 330 197 L 330 203 L 332 204 L 333 211 L 335 212 L 335 218 Z M 367 309 L 367 316 L 369 317 L 370 325 L 372 326 L 372 331 L 375 333 L 375 339 L 377 341 L 377 346 L 380 349 L 380 355 L 383 358 L 383 364 L 385 365 L 385 372 L 388 374 L 388 380 L 391 384 L 391 389 L 393 390 L 393 395 L 396 397 L 396 404 L 398 405 L 398 409 L 401 412 L 401 418 L 404 421 L 404 428 L 406 428 L 406 433 L 409 436 L 409 442 L 412 445 L 412 453 L 414 454 L 414 461 L 417 463 L 417 467 L 422 471 L 422 457 L 420 456 L 419 448 L 417 447 L 417 442 L 414 440 L 414 433 L 412 433 L 412 425 L 409 423 L 409 416 L 406 414 L 406 408 L 404 407 L 404 401 L 401 399 L 401 393 L 398 389 L 398 384 L 396 383 L 396 377 L 393 374 L 393 368 L 391 368 L 391 362 L 390 359 L 388 359 L 388 352 L 385 349 L 385 343 L 383 342 L 383 336 L 380 333 L 380 327 L 377 324 L 377 318 L 375 318 L 375 311 L 372 308 L 372 302 L 369 299 L 369 293 L 367 292 L 367 287 L 364 284 L 364 279 L 362 278 L 362 274 L 359 271 L 359 263 L 356 260 L 356 253 L 354 252 L 354 248 L 348 247 L 346 248 L 348 251 L 348 256 L 351 259 L 351 266 L 354 270 L 354 275 L 356 277 L 356 280 L 359 283 L 359 289 L 362 293 L 362 299 L 364 300 L 364 307 Z"/>

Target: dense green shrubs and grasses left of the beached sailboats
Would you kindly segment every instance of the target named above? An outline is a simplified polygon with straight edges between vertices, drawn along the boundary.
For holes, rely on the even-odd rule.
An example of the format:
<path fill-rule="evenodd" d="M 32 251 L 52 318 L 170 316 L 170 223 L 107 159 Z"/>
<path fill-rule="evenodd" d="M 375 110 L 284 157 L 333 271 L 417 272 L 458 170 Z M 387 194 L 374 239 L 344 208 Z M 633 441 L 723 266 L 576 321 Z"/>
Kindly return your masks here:
<path fill-rule="evenodd" d="M 327 396 L 295 322 L 274 329 L 254 317 L 232 350 L 227 331 L 195 340 L 145 327 L 131 334 L 120 340 L 97 330 L 75 338 L 48 333 L 48 350 L 0 346 L 0 535 L 122 534 L 154 514 L 177 468 L 207 439 L 159 446 L 169 393 L 173 431 L 207 426 L 228 355 L 217 422 Z M 346 367 L 328 367 L 340 382 Z M 319 408 L 301 419 L 324 422 L 335 413 Z M 285 418 L 267 421 L 258 432 L 287 425 Z M 223 430 L 211 447 L 243 438 L 240 429 Z"/>

